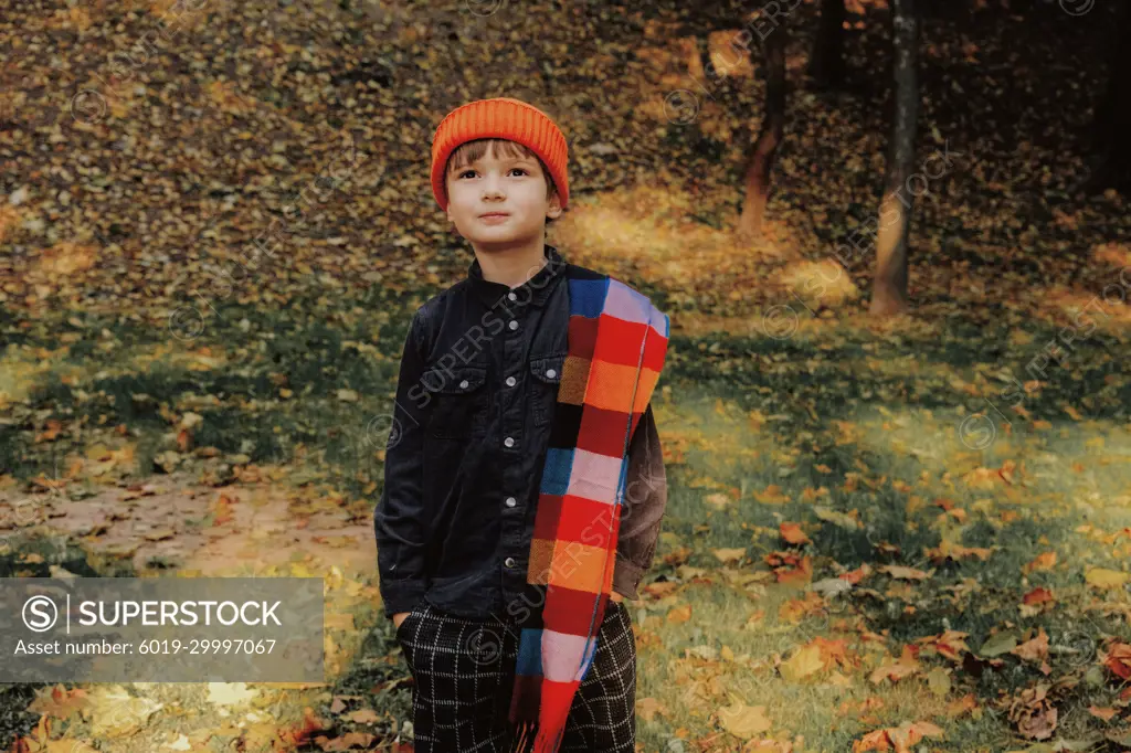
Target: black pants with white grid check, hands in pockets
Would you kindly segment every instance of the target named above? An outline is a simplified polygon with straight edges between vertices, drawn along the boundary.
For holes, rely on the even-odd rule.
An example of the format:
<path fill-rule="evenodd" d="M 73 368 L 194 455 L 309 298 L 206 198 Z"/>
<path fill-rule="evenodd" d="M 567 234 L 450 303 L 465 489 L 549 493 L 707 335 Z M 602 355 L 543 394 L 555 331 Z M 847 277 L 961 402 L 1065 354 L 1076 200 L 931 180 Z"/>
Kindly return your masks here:
<path fill-rule="evenodd" d="M 636 638 L 628 607 L 610 600 L 597 652 L 570 707 L 560 753 L 636 750 Z M 424 601 L 397 629 L 415 681 L 416 753 L 507 753 L 518 630 L 467 620 Z"/>

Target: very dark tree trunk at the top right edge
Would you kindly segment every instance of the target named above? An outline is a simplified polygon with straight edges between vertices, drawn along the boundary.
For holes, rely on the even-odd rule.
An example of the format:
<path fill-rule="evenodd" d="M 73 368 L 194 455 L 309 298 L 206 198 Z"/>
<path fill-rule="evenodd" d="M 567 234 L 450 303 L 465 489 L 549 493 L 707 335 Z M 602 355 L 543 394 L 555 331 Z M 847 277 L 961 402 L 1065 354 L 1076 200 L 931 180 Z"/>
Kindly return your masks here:
<path fill-rule="evenodd" d="M 1131 34 L 1131 2 L 1123 2 L 1113 25 L 1107 58 L 1107 86 L 1093 120 L 1095 162 L 1083 184 L 1088 193 L 1107 188 L 1131 190 L 1131 53 L 1122 43 Z"/>

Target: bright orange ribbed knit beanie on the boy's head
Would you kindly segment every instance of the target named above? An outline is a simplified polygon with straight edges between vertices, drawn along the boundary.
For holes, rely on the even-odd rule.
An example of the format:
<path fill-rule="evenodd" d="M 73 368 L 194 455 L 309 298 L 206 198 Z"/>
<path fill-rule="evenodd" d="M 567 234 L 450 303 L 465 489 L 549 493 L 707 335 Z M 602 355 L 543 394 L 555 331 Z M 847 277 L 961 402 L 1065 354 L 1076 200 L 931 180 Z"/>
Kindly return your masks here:
<path fill-rule="evenodd" d="M 569 201 L 566 136 L 550 116 L 519 99 L 497 97 L 469 102 L 449 112 L 432 136 L 432 196 L 448 209 L 444 170 L 448 157 L 460 144 L 500 138 L 529 147 L 545 164 L 558 188 L 562 208 Z"/>

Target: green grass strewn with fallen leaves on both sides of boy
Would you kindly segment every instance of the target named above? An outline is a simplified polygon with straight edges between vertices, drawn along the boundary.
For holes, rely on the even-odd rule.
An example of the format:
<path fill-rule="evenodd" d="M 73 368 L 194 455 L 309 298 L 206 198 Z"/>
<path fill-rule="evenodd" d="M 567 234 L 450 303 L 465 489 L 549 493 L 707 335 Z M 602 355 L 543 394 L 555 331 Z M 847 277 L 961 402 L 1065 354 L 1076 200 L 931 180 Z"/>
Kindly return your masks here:
<path fill-rule="evenodd" d="M 204 418 L 197 445 L 242 453 L 251 462 L 284 464 L 295 483 L 317 478 L 366 509 L 377 497 L 375 450 L 383 442 L 369 436 L 368 427 L 388 408 L 405 327 L 422 295 L 361 296 L 333 305 L 311 298 L 304 302 L 309 309 L 217 306 L 218 315 L 191 341 L 170 338 L 155 322 L 84 317 L 81 339 L 72 338 L 46 366 L 36 364 L 34 379 L 27 376 L 26 354 L 58 348 L 60 338 L 52 332 L 74 326 L 66 323 L 67 314 L 35 327 L 17 328 L 9 320 L 6 328 L 19 336 L 3 373 L 8 389 L 18 388 L 24 401 L 6 410 L 2 459 L 21 482 L 50 476 L 68 452 L 112 443 L 113 427 L 124 425 L 138 445 L 132 476 L 144 477 L 154 471 L 153 458 L 170 447 L 171 417 L 192 410 Z M 663 389 L 654 399 L 672 455 L 670 499 L 648 580 L 675 580 L 681 590 L 632 604 L 640 629 L 657 639 L 640 643 L 637 696 L 664 708 L 639 722 L 645 750 L 696 750 L 692 741 L 711 735 L 719 745 L 736 744 L 722 732 L 719 711 L 735 701 L 765 706 L 772 722 L 767 736 L 793 741 L 797 750 L 848 750 L 872 729 L 916 720 L 946 730 L 932 750 L 1020 750 L 1024 741 L 1012 737 L 1012 725 L 995 706 L 1000 694 L 1081 678 L 1105 638 L 1131 639 L 1120 612 L 1129 606 L 1128 594 L 1099 594 L 1083 580 L 1090 566 L 1126 570 L 1131 553 L 1126 538 L 1102 544 L 1095 533 L 1131 526 L 1126 387 L 1107 379 L 1125 367 L 1110 357 L 1114 343 L 1097 335 L 1073 356 L 1074 370 L 1051 369 L 1048 384 L 1027 400 L 1031 417 L 1048 422 L 1046 427 L 1010 415 L 1012 426 L 998 419 L 993 441 L 972 449 L 962 442 L 962 419 L 999 389 L 985 375 L 1021 372 L 1031 357 L 1010 348 L 1010 329 L 975 331 L 956 322 L 943 337 L 916 339 L 829 326 L 787 340 L 673 338 Z M 1027 331 L 1034 343 L 1050 335 L 1039 327 Z M 208 363 L 201 355 L 216 361 L 201 367 Z M 279 396 L 283 375 L 290 399 Z M 354 390 L 359 401 L 339 400 L 339 389 Z M 63 433 L 35 442 L 52 419 Z M 978 468 L 995 471 L 1007 461 L 1015 464 L 1012 485 L 995 473 L 979 482 Z M 782 503 L 759 501 L 771 486 Z M 722 510 L 705 501 L 731 490 L 737 499 Z M 947 516 L 939 500 L 965 516 Z M 855 514 L 863 527 L 821 520 L 817 504 Z M 812 557 L 813 580 L 865 564 L 934 573 L 907 585 L 874 570 L 843 612 L 779 620 L 782 605 L 803 591 L 772 577 L 744 589 L 724 570 L 766 571 L 766 555 L 788 548 L 776 533 L 783 521 L 802 523 L 812 539 L 797 551 Z M 986 562 L 932 563 L 924 551 L 939 546 L 943 535 L 962 546 L 992 547 L 993 554 Z M 880 552 L 881 544 L 898 553 Z M 685 562 L 665 562 L 681 547 L 691 551 Z M 724 566 L 713 553 L 723 548 L 744 548 L 745 557 Z M 1024 565 L 1047 551 L 1057 552 L 1056 566 L 1027 574 Z M 679 565 L 702 574 L 685 582 L 681 572 L 688 571 Z M 1056 601 L 1047 612 L 1024 616 L 1018 605 L 1037 586 L 1051 589 Z M 690 621 L 666 618 L 685 605 Z M 751 629 L 745 625 L 754 612 L 763 618 Z M 966 642 L 976 651 L 995 631 L 1012 628 L 1021 634 L 1038 626 L 1054 646 L 1085 650 L 1052 657 L 1047 677 L 1036 664 L 1010 656 L 1002 669 L 981 677 L 931 656 L 922 658 L 923 673 L 898 684 L 867 681 L 882 657 L 947 629 L 968 633 Z M 865 633 L 880 638 L 865 641 Z M 817 637 L 844 638 L 857 657 L 858 666 L 841 669 L 843 684 L 830 682 L 826 672 L 788 682 L 775 669 L 775 657 L 788 659 Z M 739 659 L 722 658 L 724 647 Z M 365 668 L 372 660 L 366 657 L 387 647 L 370 649 L 359 655 L 347 685 L 368 682 L 373 670 Z M 923 674 L 932 667 L 950 670 L 947 698 L 932 699 L 926 691 Z M 1112 702 L 1115 686 L 1108 681 L 1059 696 L 1064 735 L 1106 727 L 1086 709 Z M 404 713 L 407 691 L 390 693 L 380 702 Z M 978 699 L 977 718 L 941 712 L 966 693 Z M 862 720 L 853 709 L 871 696 L 883 706 Z M 680 739 L 676 730 L 685 743 L 673 742 Z"/>

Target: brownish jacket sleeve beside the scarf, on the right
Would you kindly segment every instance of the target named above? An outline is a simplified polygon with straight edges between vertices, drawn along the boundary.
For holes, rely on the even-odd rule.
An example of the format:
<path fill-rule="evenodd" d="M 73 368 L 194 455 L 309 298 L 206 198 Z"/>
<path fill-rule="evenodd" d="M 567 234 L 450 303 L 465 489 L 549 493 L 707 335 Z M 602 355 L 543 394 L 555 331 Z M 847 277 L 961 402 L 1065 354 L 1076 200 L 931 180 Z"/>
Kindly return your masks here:
<path fill-rule="evenodd" d="M 627 599 L 639 598 L 637 586 L 651 566 L 666 505 L 664 453 L 649 403 L 629 444 L 629 468 L 613 566 L 613 590 Z"/>

